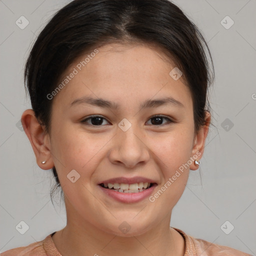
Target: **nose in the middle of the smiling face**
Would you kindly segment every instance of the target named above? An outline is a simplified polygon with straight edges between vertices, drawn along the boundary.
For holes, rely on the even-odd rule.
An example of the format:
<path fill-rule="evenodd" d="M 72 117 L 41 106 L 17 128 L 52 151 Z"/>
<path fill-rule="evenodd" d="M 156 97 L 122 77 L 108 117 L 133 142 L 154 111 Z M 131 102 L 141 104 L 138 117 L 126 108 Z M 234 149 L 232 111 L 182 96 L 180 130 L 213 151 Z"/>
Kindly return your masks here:
<path fill-rule="evenodd" d="M 124 165 L 128 168 L 145 164 L 150 158 L 146 144 L 145 135 L 135 129 L 134 124 L 126 131 L 118 127 L 108 154 L 109 160 L 113 164 Z"/>

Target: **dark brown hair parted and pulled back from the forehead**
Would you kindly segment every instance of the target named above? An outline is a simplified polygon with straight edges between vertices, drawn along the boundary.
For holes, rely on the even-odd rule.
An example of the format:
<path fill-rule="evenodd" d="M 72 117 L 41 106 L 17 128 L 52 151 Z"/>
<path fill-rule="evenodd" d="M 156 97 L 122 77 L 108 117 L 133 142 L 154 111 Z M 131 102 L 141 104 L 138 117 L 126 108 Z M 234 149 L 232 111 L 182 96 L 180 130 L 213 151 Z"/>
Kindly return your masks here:
<path fill-rule="evenodd" d="M 46 95 L 75 58 L 109 42 L 155 44 L 171 56 L 190 89 L 194 130 L 198 131 L 205 123 L 205 110 L 210 109 L 207 90 L 214 80 L 212 58 L 196 25 L 168 0 L 73 0 L 53 15 L 36 38 L 24 70 L 26 92 L 45 131 L 50 132 L 52 106 Z M 51 201 L 60 186 L 55 167 L 52 171 L 56 184 Z"/>

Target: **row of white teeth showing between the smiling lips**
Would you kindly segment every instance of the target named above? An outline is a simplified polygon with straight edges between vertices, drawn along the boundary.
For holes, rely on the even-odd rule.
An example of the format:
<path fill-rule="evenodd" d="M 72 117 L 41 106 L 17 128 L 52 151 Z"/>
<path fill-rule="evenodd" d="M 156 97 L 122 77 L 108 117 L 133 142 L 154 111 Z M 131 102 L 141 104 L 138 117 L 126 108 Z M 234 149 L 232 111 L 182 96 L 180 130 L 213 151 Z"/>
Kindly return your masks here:
<path fill-rule="evenodd" d="M 139 182 L 139 183 L 100 183 L 99 185 L 106 188 L 112 189 L 121 193 L 138 193 L 142 192 L 156 183 Z"/>

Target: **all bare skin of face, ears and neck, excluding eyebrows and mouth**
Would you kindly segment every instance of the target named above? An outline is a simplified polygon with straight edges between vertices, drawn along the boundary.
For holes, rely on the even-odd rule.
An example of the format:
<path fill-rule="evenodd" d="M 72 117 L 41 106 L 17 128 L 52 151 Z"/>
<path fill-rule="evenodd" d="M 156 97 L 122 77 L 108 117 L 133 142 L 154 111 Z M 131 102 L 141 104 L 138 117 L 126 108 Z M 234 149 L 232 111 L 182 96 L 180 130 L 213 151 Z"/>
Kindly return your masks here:
<path fill-rule="evenodd" d="M 106 196 L 98 187 L 104 179 L 143 176 L 157 182 L 155 193 L 175 171 L 196 155 L 202 157 L 208 132 L 207 121 L 195 134 L 192 98 L 182 77 L 169 72 L 175 65 L 158 49 L 143 44 L 108 44 L 54 96 L 51 131 L 46 134 L 32 109 L 21 117 L 36 161 L 42 169 L 56 167 L 64 192 L 66 226 L 53 242 L 67 255 L 178 255 L 184 254 L 183 237 L 169 227 L 171 211 L 181 197 L 194 161 L 157 198 L 123 203 Z M 80 56 L 65 72 L 69 74 Z M 63 77 L 64 77 L 63 76 Z M 100 97 L 118 103 L 117 109 L 70 103 L 81 96 Z M 146 99 L 172 96 L 184 107 L 161 105 L 139 110 Z M 101 115 L 101 126 L 92 126 L 89 115 Z M 167 119 L 154 124 L 154 114 Z M 126 118 L 131 127 L 123 131 L 118 123 Z M 195 158 L 194 158 L 195 159 Z M 45 164 L 41 161 L 46 160 Z M 75 169 L 80 178 L 66 177 Z M 122 233 L 118 226 L 131 227 Z"/>

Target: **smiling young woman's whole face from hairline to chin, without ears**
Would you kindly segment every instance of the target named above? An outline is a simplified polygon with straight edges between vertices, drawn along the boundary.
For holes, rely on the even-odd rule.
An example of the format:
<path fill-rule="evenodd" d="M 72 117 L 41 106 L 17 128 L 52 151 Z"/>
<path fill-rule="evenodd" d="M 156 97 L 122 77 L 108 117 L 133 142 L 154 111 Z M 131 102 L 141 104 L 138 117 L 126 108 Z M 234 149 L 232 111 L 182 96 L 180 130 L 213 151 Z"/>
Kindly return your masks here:
<path fill-rule="evenodd" d="M 69 81 L 51 99 L 49 157 L 68 221 L 140 234 L 170 217 L 204 140 L 194 140 L 189 89 L 182 77 L 169 75 L 175 65 L 160 51 L 108 44 L 94 52 L 73 62 L 63 76 Z M 144 189 L 146 182 L 151 184 Z M 104 183 L 135 190 L 119 192 Z M 121 223 L 130 227 L 127 234 Z"/>

